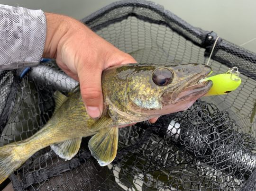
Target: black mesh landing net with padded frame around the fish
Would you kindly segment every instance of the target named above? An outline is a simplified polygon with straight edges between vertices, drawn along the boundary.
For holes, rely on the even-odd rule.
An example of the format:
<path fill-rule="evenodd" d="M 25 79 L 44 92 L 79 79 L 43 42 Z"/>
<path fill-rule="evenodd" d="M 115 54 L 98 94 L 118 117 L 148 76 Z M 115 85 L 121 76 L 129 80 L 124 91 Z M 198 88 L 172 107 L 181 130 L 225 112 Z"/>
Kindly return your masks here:
<path fill-rule="evenodd" d="M 144 0 L 118 1 L 82 22 L 139 63 L 206 63 L 218 36 Z M 11 181 L 17 191 L 255 190 L 256 53 L 219 38 L 209 65 L 213 74 L 237 66 L 242 84 L 228 95 L 204 97 L 187 111 L 162 116 L 155 124 L 119 129 L 118 154 L 108 166 L 98 165 L 87 147 L 90 138 L 84 138 L 69 161 L 49 147 L 40 150 L 1 188 Z M 76 84 L 55 61 L 26 75 L 1 71 L 0 146 L 42 128 L 54 111 L 53 93 L 65 94 Z"/>

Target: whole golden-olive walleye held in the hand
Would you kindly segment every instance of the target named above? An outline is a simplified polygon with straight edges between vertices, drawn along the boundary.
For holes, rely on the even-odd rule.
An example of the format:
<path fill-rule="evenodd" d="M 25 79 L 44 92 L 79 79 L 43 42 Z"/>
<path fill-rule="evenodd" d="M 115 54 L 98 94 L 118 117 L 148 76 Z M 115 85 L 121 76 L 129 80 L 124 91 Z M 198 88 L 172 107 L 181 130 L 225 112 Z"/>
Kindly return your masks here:
<path fill-rule="evenodd" d="M 69 97 L 55 93 L 55 112 L 46 125 L 28 139 L 0 147 L 0 183 L 30 156 L 51 146 L 61 158 L 70 160 L 80 148 L 82 137 L 92 136 L 89 149 L 101 166 L 117 153 L 118 128 L 163 114 L 186 110 L 205 95 L 212 82 L 202 64 L 127 64 L 102 73 L 104 111 L 100 119 L 86 113 L 80 91 Z"/>

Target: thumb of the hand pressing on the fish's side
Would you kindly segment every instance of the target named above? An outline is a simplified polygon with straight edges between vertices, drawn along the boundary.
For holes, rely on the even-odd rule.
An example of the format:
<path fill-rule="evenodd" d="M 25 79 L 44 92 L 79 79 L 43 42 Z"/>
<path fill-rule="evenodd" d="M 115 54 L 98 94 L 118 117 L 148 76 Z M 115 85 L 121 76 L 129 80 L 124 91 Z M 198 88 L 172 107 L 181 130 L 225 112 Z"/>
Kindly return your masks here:
<path fill-rule="evenodd" d="M 100 118 L 103 111 L 100 68 L 83 67 L 78 72 L 82 100 L 92 118 Z"/>

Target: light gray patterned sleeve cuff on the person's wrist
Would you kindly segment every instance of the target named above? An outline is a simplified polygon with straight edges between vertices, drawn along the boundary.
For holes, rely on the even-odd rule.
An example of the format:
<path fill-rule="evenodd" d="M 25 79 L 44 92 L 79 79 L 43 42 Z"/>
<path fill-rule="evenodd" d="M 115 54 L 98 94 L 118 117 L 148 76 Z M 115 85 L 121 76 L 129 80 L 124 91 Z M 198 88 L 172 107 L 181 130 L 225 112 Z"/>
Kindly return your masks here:
<path fill-rule="evenodd" d="M 46 41 L 42 10 L 0 5 L 0 69 L 36 66 Z"/>

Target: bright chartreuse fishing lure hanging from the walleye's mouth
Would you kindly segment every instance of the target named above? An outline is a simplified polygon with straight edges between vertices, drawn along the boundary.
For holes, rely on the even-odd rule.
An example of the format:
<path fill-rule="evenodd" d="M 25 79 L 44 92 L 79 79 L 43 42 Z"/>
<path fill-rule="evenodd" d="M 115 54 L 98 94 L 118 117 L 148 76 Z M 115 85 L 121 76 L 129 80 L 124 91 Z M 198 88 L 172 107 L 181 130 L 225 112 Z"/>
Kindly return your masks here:
<path fill-rule="evenodd" d="M 230 68 L 224 74 L 218 74 L 199 80 L 199 83 L 211 80 L 212 87 L 205 96 L 225 95 L 237 89 L 241 84 L 237 67 Z"/>

